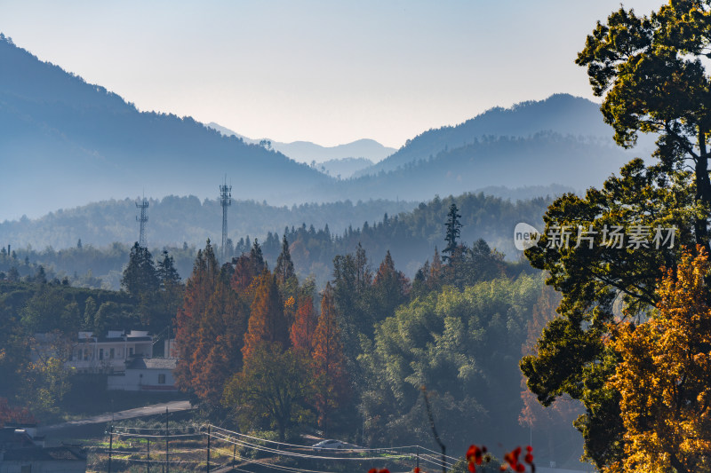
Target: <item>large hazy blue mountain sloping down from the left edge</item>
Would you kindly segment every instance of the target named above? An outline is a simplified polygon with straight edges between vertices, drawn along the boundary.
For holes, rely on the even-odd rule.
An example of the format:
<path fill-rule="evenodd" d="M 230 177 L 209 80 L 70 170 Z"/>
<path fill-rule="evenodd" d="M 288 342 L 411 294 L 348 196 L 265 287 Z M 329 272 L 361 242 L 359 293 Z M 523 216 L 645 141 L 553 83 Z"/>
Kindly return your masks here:
<path fill-rule="evenodd" d="M 0 64 L 0 201 L 21 202 L 23 213 L 123 198 L 144 188 L 152 195 L 212 197 L 226 174 L 236 198 L 292 203 L 314 200 L 304 189 L 333 180 L 190 117 L 140 113 L 7 38 L 0 40 Z M 4 210 L 0 220 L 11 209 Z"/>

